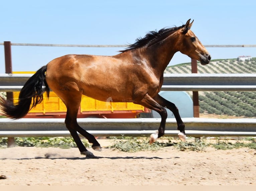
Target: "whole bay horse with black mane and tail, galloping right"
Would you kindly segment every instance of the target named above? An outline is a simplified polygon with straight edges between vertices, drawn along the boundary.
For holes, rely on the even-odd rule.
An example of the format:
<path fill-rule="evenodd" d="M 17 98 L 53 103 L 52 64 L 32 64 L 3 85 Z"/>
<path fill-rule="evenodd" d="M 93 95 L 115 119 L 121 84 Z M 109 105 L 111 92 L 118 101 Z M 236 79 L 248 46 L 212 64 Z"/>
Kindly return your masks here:
<path fill-rule="evenodd" d="M 190 30 L 194 20 L 185 25 L 151 31 L 121 53 L 114 56 L 66 55 L 40 68 L 20 91 L 18 103 L 1 98 L 4 115 L 18 119 L 42 101 L 43 92 L 49 97 L 50 89 L 67 107 L 65 124 L 81 154 L 94 158 L 80 140 L 78 132 L 86 137 L 92 148 L 101 151 L 93 135 L 77 123 L 82 95 L 101 101 L 111 96 L 113 102 L 133 100 L 136 104 L 153 109 L 161 116 L 158 131 L 150 135 L 149 143 L 164 135 L 167 112 L 170 109 L 177 121 L 179 138 L 185 140 L 185 125 L 176 106 L 158 93 L 163 84 L 163 73 L 173 55 L 181 53 L 209 64 L 211 56 L 197 36 Z"/>

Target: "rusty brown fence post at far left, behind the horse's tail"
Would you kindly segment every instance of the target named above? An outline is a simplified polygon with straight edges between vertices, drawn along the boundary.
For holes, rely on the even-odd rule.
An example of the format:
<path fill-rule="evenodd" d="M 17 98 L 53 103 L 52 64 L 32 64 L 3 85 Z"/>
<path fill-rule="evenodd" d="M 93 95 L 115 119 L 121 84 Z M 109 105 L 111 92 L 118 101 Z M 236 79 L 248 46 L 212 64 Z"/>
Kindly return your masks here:
<path fill-rule="evenodd" d="M 5 56 L 5 73 L 12 74 L 12 57 L 11 57 L 11 42 L 4 41 L 4 56 Z M 6 98 L 13 99 L 12 92 L 6 92 Z M 14 147 L 14 137 L 8 137 L 8 147 Z"/>

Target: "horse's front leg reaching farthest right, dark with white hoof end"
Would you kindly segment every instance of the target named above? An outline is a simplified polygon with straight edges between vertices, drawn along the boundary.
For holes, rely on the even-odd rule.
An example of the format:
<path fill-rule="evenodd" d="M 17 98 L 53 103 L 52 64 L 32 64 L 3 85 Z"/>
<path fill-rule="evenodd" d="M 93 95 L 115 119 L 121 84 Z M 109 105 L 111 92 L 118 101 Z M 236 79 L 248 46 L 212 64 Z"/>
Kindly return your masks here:
<path fill-rule="evenodd" d="M 174 103 L 164 99 L 159 94 L 157 94 L 155 97 L 153 97 L 153 99 L 160 105 L 171 110 L 171 112 L 174 114 L 174 117 L 176 119 L 176 122 L 178 125 L 178 130 L 180 131 L 180 133 L 178 133 L 178 137 L 182 141 L 185 141 L 186 140 L 185 125 L 179 115 L 179 111 L 178 111 L 178 108 L 176 107 L 176 105 Z"/>

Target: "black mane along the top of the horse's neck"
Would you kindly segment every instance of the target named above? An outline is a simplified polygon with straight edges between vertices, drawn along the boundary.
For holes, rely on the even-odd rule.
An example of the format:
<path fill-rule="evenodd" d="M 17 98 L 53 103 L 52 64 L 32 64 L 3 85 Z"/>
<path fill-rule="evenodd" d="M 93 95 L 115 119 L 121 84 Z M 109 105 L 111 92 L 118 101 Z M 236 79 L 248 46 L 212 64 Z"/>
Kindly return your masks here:
<path fill-rule="evenodd" d="M 150 31 L 145 35 L 144 38 L 137 38 L 136 42 L 134 44 L 129 45 L 125 50 L 119 51 L 119 52 L 126 52 L 128 50 L 136 49 L 136 48 L 141 48 L 144 46 L 151 46 L 161 40 L 163 40 L 161 37 L 165 37 L 166 34 L 169 34 L 170 32 L 174 32 L 185 25 L 182 25 L 180 27 L 172 27 L 172 28 L 163 28 L 160 29 L 159 31 Z"/>

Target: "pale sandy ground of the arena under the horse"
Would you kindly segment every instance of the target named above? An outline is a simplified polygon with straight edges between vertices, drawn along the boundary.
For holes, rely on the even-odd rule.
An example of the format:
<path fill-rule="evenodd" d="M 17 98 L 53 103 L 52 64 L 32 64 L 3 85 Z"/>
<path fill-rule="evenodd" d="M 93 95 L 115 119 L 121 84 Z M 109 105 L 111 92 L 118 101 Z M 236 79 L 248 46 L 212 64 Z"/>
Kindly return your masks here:
<path fill-rule="evenodd" d="M 99 140 L 106 147 L 112 140 Z M 88 159 L 77 148 L 0 149 L 0 185 L 256 185 L 256 150 L 126 153 L 103 148 Z"/>

